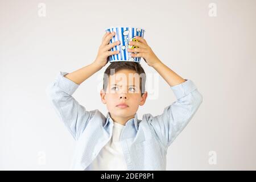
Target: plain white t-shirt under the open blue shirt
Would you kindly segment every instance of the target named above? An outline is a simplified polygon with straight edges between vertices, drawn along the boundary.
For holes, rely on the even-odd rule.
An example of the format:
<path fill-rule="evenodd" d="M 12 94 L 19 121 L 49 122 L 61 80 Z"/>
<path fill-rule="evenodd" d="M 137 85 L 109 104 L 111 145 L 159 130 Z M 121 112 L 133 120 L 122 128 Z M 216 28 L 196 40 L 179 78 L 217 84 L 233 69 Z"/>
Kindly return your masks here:
<path fill-rule="evenodd" d="M 123 156 L 120 137 L 125 126 L 113 122 L 113 135 L 109 142 L 101 149 L 96 159 L 90 164 L 90 170 L 120 170 L 126 171 L 127 166 Z"/>

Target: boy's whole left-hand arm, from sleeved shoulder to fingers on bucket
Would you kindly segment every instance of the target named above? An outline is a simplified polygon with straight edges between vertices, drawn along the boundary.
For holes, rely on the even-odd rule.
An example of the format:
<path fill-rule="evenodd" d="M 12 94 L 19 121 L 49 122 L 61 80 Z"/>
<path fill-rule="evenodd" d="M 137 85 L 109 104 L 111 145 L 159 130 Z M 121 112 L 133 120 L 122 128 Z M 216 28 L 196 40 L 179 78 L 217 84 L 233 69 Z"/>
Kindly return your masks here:
<path fill-rule="evenodd" d="M 96 60 L 72 73 L 60 72 L 56 80 L 47 86 L 46 93 L 59 115 L 61 121 L 67 126 L 74 139 L 78 139 L 93 118 L 96 110 L 86 111 L 85 107 L 72 97 L 72 94 L 87 78 L 99 71 L 108 63 L 108 56 L 117 52 L 108 51 L 117 43 L 108 44 L 113 35 L 105 34 L 99 48 Z"/>

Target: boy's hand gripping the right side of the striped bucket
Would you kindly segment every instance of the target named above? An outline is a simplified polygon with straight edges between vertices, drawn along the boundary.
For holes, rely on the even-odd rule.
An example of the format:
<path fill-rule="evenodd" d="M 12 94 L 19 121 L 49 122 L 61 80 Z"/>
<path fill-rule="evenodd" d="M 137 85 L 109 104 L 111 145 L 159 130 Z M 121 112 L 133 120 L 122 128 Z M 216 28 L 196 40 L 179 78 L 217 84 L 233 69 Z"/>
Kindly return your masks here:
<path fill-rule="evenodd" d="M 156 57 L 152 49 L 148 46 L 145 39 L 143 39 L 141 36 L 135 36 L 135 39 L 139 40 L 139 42 L 131 41 L 129 42 L 129 45 L 137 46 L 139 48 L 127 49 L 128 52 L 137 52 L 132 53 L 131 57 L 143 57 L 144 61 L 146 61 L 150 67 L 152 67 L 152 65 L 155 63 L 161 62 L 158 57 Z"/>

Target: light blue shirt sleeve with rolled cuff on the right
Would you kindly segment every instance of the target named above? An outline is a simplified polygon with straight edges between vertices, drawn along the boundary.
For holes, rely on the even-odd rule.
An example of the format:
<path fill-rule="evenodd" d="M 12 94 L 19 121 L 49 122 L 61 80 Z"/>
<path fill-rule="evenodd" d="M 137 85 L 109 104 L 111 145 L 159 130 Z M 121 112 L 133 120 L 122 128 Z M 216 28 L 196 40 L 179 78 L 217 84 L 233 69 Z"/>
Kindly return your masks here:
<path fill-rule="evenodd" d="M 203 96 L 191 80 L 185 80 L 179 85 L 171 86 L 171 89 L 177 100 L 165 107 L 162 114 L 155 117 L 151 114 L 148 115 L 148 121 L 167 147 L 187 126 L 203 102 Z"/>

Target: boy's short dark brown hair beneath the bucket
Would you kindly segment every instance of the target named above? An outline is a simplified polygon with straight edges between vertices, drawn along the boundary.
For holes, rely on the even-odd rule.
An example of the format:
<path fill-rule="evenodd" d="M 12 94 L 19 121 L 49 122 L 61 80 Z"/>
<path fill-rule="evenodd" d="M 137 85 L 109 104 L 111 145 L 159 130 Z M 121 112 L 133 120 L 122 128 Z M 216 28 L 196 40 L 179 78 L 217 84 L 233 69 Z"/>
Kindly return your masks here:
<path fill-rule="evenodd" d="M 140 63 L 136 62 L 129 62 L 129 61 L 118 61 L 113 62 L 109 65 L 108 68 L 106 68 L 104 72 L 104 78 L 103 78 L 103 89 L 106 92 L 106 88 L 108 86 L 108 81 L 110 74 L 113 72 L 110 72 L 110 69 L 114 69 L 114 73 L 120 71 L 121 69 L 130 69 L 135 71 L 139 74 L 139 89 L 141 90 L 141 96 L 143 95 L 145 91 L 145 85 L 146 85 L 146 73 L 144 72 L 144 69 L 141 67 Z"/>

